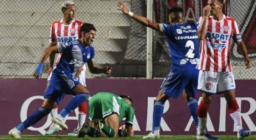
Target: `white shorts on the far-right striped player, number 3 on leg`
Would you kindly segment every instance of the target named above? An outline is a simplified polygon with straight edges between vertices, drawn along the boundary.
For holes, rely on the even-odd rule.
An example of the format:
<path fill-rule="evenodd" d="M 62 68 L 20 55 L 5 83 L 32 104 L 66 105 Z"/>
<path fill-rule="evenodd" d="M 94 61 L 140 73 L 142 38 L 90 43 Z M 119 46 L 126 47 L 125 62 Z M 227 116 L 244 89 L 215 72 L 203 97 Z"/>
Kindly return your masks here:
<path fill-rule="evenodd" d="M 206 94 L 220 94 L 235 90 L 236 84 L 232 72 L 199 71 L 197 89 Z"/>

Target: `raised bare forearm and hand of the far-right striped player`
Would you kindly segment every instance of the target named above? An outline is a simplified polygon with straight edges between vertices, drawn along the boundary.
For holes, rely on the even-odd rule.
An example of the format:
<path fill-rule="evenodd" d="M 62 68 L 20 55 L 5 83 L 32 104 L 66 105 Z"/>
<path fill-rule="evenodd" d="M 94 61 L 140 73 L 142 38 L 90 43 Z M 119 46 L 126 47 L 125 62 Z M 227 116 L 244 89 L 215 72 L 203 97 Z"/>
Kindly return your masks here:
<path fill-rule="evenodd" d="M 200 25 L 197 31 L 197 36 L 200 40 L 203 40 L 207 33 L 207 24 L 208 24 L 208 17 L 210 15 L 210 11 L 211 11 L 211 6 L 207 5 L 204 7 L 203 15 L 202 15 L 202 24 Z"/>

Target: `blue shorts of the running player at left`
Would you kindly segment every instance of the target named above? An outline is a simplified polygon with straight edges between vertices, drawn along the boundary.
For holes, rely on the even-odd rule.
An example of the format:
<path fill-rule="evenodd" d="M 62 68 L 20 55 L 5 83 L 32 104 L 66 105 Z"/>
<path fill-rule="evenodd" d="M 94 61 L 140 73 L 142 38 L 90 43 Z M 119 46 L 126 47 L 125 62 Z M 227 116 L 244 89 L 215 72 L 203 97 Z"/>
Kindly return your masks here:
<path fill-rule="evenodd" d="M 44 94 L 44 98 L 60 104 L 65 94 L 73 94 L 74 87 L 79 84 L 78 78 L 74 79 L 72 75 L 58 74 L 53 71 L 50 85 Z"/>

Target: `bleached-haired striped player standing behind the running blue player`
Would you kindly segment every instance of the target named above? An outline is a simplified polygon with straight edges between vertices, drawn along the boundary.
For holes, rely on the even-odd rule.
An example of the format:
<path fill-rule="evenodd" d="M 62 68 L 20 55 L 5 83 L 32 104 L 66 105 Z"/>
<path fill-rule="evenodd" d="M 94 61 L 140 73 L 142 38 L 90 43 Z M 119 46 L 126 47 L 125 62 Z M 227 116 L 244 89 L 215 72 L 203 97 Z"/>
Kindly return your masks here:
<path fill-rule="evenodd" d="M 53 22 L 51 25 L 51 32 L 49 36 L 49 42 L 50 46 L 56 45 L 56 43 L 66 43 L 67 41 L 75 41 L 79 39 L 79 31 L 80 27 L 83 24 L 83 22 L 76 20 L 76 6 L 73 1 L 65 1 L 61 4 L 61 11 L 63 13 L 63 18 L 61 20 L 58 20 L 56 22 Z M 52 68 L 56 68 L 56 65 L 58 64 L 61 53 L 58 53 L 58 57 L 55 61 L 54 65 L 54 57 L 55 53 L 52 53 L 50 56 L 50 67 L 49 67 L 49 77 L 47 81 L 51 80 L 51 74 L 52 74 Z M 77 71 L 76 76 L 79 76 L 79 82 L 86 87 L 85 83 L 85 71 L 86 66 L 83 66 L 83 69 L 79 69 Z M 47 85 L 49 85 L 49 82 L 47 82 Z M 63 97 L 65 94 L 63 94 Z M 52 118 L 56 117 L 58 115 L 58 104 L 63 99 L 63 97 L 60 97 L 54 104 L 54 108 L 51 110 L 51 116 Z M 69 133 L 68 135 L 76 136 L 79 132 L 79 129 L 82 127 L 87 113 L 87 102 L 83 102 L 78 108 L 78 125 L 77 128 L 74 129 L 72 133 Z M 61 130 L 58 125 L 52 125 L 49 127 L 49 130 L 45 132 L 46 135 L 51 135 L 54 132 Z"/>

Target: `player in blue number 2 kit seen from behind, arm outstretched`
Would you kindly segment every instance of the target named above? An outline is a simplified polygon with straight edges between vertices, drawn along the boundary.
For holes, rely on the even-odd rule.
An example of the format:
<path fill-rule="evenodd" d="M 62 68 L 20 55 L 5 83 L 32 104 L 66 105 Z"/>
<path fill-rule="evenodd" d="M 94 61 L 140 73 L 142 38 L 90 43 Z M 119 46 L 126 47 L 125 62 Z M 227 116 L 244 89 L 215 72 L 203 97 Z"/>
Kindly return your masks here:
<path fill-rule="evenodd" d="M 160 122 L 163 116 L 164 102 L 173 97 L 176 99 L 182 93 L 186 92 L 187 104 L 191 115 L 198 128 L 198 117 L 196 109 L 196 87 L 198 81 L 198 70 L 196 65 L 199 60 L 199 40 L 196 35 L 198 24 L 184 23 L 182 8 L 174 7 L 169 11 L 169 23 L 159 24 L 152 22 L 145 17 L 136 15 L 129 11 L 127 5 L 122 2 L 117 3 L 118 10 L 125 15 L 129 15 L 140 24 L 163 32 L 168 41 L 170 55 L 172 56 L 172 69 L 164 79 L 158 92 L 153 112 L 153 130 L 143 138 L 159 138 Z"/>

